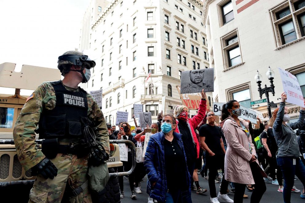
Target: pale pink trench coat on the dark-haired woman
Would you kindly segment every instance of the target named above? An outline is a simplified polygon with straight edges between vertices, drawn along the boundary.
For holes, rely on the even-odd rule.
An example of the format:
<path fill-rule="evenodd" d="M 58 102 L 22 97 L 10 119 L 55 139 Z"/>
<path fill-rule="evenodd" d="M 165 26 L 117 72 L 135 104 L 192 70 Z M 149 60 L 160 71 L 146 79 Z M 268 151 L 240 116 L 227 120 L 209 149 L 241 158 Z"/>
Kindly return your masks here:
<path fill-rule="evenodd" d="M 249 128 L 248 122 L 240 122 L 247 129 Z M 249 162 L 252 155 L 256 157 L 251 135 L 248 137 L 243 128 L 237 125 L 231 116 L 220 122 L 220 126 L 223 129 L 228 145 L 224 158 L 225 179 L 229 182 L 240 184 L 255 184 Z M 249 143 L 252 153 L 250 153 Z"/>

